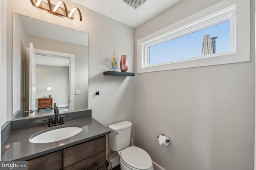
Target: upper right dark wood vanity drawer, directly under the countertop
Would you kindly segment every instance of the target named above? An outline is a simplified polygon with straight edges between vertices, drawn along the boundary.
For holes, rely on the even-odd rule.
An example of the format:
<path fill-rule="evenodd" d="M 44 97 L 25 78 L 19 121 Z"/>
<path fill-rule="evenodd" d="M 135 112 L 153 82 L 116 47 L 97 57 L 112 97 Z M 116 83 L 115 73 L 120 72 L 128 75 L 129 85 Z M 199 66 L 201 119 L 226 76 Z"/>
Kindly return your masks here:
<path fill-rule="evenodd" d="M 104 151 L 106 151 L 106 136 L 64 149 L 63 166 L 65 168 Z M 104 159 L 106 164 L 106 152 Z"/>

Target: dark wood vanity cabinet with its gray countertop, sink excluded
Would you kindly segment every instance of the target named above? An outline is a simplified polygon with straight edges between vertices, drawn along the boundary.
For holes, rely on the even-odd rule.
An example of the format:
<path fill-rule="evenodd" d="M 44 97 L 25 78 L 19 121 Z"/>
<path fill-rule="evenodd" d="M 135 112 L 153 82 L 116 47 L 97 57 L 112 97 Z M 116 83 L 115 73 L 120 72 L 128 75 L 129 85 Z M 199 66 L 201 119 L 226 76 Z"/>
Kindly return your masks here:
<path fill-rule="evenodd" d="M 55 142 L 31 143 L 30 137 L 48 128 L 47 125 L 12 131 L 2 144 L 2 160 L 28 160 L 29 170 L 101 170 L 106 168 L 106 135 L 110 130 L 87 117 L 66 121 L 79 125 L 80 133 Z"/>

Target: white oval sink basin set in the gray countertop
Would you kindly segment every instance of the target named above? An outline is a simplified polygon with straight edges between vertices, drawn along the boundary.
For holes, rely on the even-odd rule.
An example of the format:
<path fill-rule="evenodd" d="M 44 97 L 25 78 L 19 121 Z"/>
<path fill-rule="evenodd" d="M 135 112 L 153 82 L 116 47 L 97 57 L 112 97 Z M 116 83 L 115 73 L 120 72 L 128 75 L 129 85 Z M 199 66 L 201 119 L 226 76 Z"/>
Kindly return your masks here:
<path fill-rule="evenodd" d="M 82 126 L 66 125 L 60 127 L 53 127 L 38 133 L 35 133 L 29 138 L 32 143 L 49 143 L 60 141 L 78 134 L 83 130 Z"/>

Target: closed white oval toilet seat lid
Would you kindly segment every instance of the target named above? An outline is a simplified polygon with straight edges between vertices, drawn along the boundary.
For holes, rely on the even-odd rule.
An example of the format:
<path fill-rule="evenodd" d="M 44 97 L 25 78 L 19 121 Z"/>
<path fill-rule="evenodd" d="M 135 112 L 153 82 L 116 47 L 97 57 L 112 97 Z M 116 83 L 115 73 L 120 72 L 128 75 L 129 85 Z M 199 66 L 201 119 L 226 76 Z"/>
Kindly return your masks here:
<path fill-rule="evenodd" d="M 120 152 L 122 162 L 130 169 L 148 170 L 152 167 L 149 154 L 139 147 L 129 147 Z"/>

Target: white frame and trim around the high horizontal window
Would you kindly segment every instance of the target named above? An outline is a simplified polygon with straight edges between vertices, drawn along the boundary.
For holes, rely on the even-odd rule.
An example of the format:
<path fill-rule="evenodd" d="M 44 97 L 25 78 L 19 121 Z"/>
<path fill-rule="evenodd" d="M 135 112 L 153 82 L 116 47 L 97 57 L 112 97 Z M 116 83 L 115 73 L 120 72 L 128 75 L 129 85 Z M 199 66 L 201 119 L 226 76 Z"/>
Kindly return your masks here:
<path fill-rule="evenodd" d="M 230 20 L 230 51 L 149 64 L 149 48 Z M 250 61 L 250 0 L 224 0 L 137 41 L 138 73 Z"/>

